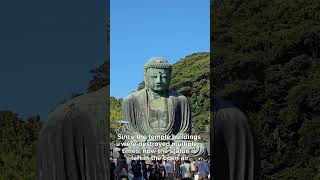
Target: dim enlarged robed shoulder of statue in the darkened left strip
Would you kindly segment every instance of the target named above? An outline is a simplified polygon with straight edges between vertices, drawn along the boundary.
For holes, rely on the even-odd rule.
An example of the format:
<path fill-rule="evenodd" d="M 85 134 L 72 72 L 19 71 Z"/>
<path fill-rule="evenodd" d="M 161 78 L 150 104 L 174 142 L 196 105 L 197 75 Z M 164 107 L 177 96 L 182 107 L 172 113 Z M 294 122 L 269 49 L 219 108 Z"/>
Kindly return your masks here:
<path fill-rule="evenodd" d="M 37 179 L 108 178 L 108 90 L 73 98 L 49 114 L 37 143 Z"/>

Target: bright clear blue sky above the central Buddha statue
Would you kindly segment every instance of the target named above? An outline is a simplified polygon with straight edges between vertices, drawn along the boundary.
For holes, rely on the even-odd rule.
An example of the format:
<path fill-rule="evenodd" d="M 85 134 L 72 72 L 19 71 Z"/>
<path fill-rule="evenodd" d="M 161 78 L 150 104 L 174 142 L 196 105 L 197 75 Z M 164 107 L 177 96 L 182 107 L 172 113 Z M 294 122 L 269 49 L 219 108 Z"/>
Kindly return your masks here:
<path fill-rule="evenodd" d="M 110 8 L 111 96 L 136 90 L 153 56 L 174 63 L 210 51 L 210 0 L 111 0 Z"/>

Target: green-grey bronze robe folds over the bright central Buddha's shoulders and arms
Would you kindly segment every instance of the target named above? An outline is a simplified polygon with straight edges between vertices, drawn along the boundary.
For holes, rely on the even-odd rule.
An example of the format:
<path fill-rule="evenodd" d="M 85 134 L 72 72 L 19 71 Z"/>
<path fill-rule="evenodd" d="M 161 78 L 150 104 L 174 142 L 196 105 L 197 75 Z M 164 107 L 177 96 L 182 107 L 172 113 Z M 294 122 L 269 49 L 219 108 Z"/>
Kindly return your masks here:
<path fill-rule="evenodd" d="M 173 135 L 180 137 L 191 134 L 191 107 L 187 98 L 177 92 L 169 91 L 167 97 L 168 119 L 167 128 L 155 131 L 149 122 L 150 97 L 148 89 L 131 93 L 122 105 L 122 118 L 128 121 L 123 132 L 128 135 Z"/>

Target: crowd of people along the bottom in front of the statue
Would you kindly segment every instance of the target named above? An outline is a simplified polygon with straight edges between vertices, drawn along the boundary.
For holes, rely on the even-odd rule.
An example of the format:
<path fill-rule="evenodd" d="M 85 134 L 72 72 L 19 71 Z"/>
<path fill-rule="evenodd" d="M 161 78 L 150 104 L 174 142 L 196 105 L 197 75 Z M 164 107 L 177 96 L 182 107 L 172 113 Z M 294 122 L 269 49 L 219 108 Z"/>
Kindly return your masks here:
<path fill-rule="evenodd" d="M 124 156 L 111 161 L 112 180 L 207 180 L 210 179 L 209 157 L 189 160 L 131 160 Z"/>

